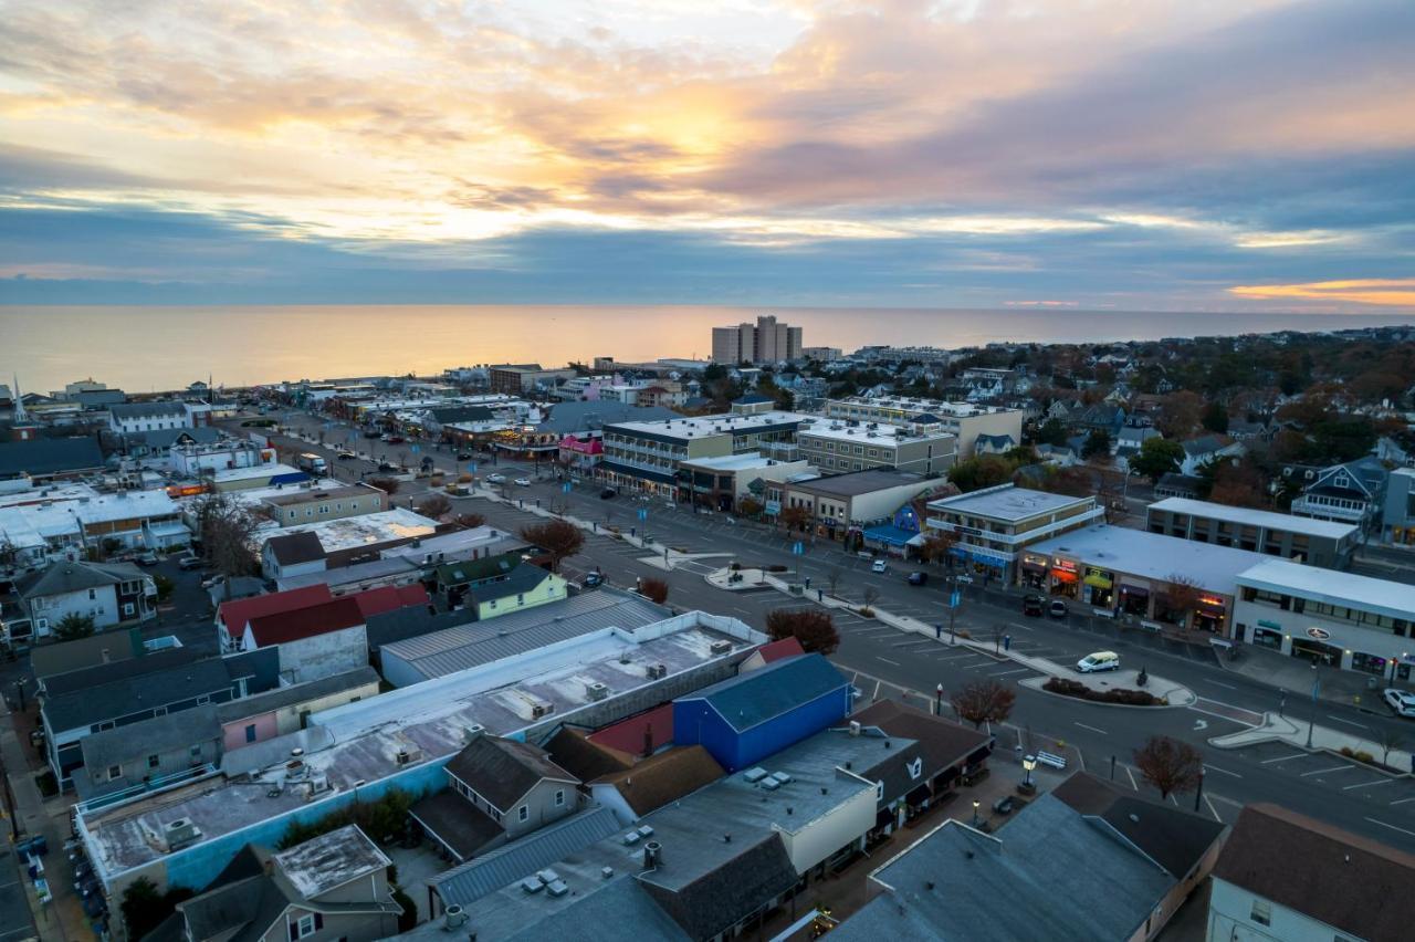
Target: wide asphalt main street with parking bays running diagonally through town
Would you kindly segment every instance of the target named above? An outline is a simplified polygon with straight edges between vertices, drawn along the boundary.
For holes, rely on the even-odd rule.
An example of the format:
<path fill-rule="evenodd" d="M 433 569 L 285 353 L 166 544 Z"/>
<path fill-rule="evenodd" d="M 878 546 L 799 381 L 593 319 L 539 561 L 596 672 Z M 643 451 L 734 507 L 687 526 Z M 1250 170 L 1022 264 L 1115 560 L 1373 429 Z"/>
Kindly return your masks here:
<path fill-rule="evenodd" d="M 307 416 L 296 416 L 293 424 L 306 434 L 316 434 L 316 430 L 323 429 L 331 440 L 347 440 L 342 427 L 331 431 Z M 375 467 L 372 463 L 389 458 L 396 461 L 400 451 L 410 453 L 408 444 L 359 440 L 354 444 L 361 451 L 369 451 L 372 463 L 337 463 L 333 460 L 333 448 L 301 440 L 280 444 L 330 455 L 331 467 L 344 471 L 344 479 L 358 479 L 361 471 L 368 474 Z M 372 450 L 368 446 L 374 446 Z M 429 447 L 419 450 L 413 464 L 424 454 L 430 454 L 434 467 L 444 474 L 468 470 L 466 463 L 454 468 L 450 453 Z M 599 533 L 586 539 L 582 553 L 566 560 L 566 574 L 572 578 L 599 570 L 610 584 L 631 588 L 637 578 L 654 576 L 668 583 L 671 604 L 730 614 L 757 628 L 764 627 L 766 615 L 773 608 L 809 604 L 816 590 L 831 591 L 833 583 L 833 594 L 839 597 L 859 603 L 863 601 L 866 588 L 873 588 L 877 593 L 874 605 L 942 627 L 941 639 L 928 638 L 900 632 L 874 620 L 836 612 L 841 646 L 833 661 L 853 678 L 866 699 L 901 697 L 917 706 L 928 706 L 938 685 L 948 692 L 981 678 L 1016 683 L 1037 676 L 1005 656 L 995 658 L 948 644 L 947 594 L 938 569 L 928 570 L 934 576 L 928 586 L 913 587 L 904 576 L 914 566 L 891 562 L 890 571 L 873 573 L 867 559 L 843 553 L 838 545 L 826 540 L 805 540 L 805 554 L 794 556 L 791 545 L 795 537 L 722 513 L 692 513 L 686 508 L 665 506 L 662 501 L 644 502 L 627 495 L 600 499 L 601 488 L 591 481 L 573 485 L 566 494 L 565 481 L 558 481 L 548 467 L 539 468 L 538 478 L 538 470 L 531 463 L 501 460 L 492 467 L 484 455 L 478 457 L 477 477 L 484 479 L 491 471 L 505 475 L 508 482 L 524 477 L 532 479 L 532 484 L 502 488 L 508 498 L 505 502 L 484 496 L 457 498 L 454 506 L 458 512 L 480 513 L 492 526 L 516 532 L 542 519 L 531 512 L 539 502 L 542 508 L 563 509 L 597 525 Z M 398 496 L 408 495 L 416 504 L 426 494 L 424 479 L 415 479 Z M 647 521 L 640 521 L 641 509 L 647 511 Z M 633 528 L 640 536 L 647 532 L 658 546 L 716 556 L 689 567 L 664 571 L 651 564 L 658 557 L 657 550 L 638 549 L 614 539 L 610 528 L 618 528 L 624 533 Z M 726 593 L 709 586 L 703 573 L 729 562 L 740 562 L 743 566 L 782 564 L 792 574 L 799 571 L 801 580 L 811 580 L 807 601 L 774 590 Z M 1126 663 L 1142 663 L 1150 673 L 1184 685 L 1200 697 L 1193 707 L 1114 707 L 1016 686 L 1017 703 L 1012 719 L 1005 728 L 996 730 L 1000 774 L 1007 774 L 1009 754 L 1019 738 L 1026 740 L 1030 731 L 1027 748 L 1065 743 L 1078 750 L 1087 769 L 1105 777 L 1112 775 L 1114 760 L 1114 775 L 1119 782 L 1146 791 L 1133 768 L 1132 755 L 1149 735 L 1165 734 L 1191 743 L 1204 752 L 1206 784 L 1200 809 L 1214 818 L 1232 822 L 1244 803 L 1271 801 L 1387 843 L 1415 839 L 1415 781 L 1411 778 L 1390 778 L 1341 757 L 1307 754 L 1286 744 L 1231 751 L 1208 744 L 1211 737 L 1249 728 L 1261 721 L 1262 713 L 1279 709 L 1299 721 L 1315 720 L 1319 726 L 1365 738 L 1375 738 L 1382 730 L 1394 730 L 1415 740 L 1415 724 L 1408 720 L 1353 704 L 1327 700 L 1313 703 L 1306 697 L 1286 694 L 1274 686 L 1225 670 L 1215 652 L 1208 648 L 1125 629 L 1088 612 L 1074 611 L 1064 620 L 1024 618 L 1016 595 L 999 591 L 999 587 L 975 584 L 965 587 L 964 595 L 955 628 L 974 638 L 990 641 L 995 635 L 1006 634 L 1015 651 L 1060 663 L 1074 662 L 1097 649 L 1115 651 Z M 944 709 L 947 711 L 947 703 Z M 1016 774 L 1020 777 L 1020 768 Z M 1191 805 L 1194 795 L 1184 795 L 1177 801 Z"/>

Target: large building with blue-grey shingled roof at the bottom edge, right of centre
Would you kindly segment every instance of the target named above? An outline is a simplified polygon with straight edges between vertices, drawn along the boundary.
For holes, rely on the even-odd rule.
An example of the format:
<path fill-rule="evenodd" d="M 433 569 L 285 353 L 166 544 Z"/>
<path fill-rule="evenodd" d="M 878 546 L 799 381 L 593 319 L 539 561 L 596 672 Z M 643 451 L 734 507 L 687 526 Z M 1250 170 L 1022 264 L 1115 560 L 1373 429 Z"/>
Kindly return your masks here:
<path fill-rule="evenodd" d="M 1049 939 L 1145 942 L 1187 880 L 1105 816 L 1041 795 L 996 835 L 942 822 L 870 873 L 870 901 L 831 935 L 1015 942 L 1044 926 Z"/>

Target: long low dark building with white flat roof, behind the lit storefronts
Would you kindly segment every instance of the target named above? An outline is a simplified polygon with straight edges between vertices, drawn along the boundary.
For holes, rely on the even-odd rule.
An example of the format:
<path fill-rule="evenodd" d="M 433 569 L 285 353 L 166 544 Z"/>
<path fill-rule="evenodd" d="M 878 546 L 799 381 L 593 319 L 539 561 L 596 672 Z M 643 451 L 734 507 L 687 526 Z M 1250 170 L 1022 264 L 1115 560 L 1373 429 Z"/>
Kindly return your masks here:
<path fill-rule="evenodd" d="M 1350 523 L 1184 498 L 1150 504 L 1145 526 L 1150 533 L 1235 546 L 1323 569 L 1350 569 L 1360 540 L 1360 530 Z"/>

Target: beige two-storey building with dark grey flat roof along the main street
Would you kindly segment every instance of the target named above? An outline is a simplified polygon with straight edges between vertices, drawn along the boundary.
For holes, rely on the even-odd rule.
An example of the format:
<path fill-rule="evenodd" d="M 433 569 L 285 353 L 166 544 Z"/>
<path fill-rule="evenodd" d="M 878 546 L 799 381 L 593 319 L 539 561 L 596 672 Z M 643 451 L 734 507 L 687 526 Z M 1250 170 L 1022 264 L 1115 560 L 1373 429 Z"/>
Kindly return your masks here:
<path fill-rule="evenodd" d="M 900 506 L 917 496 L 947 488 L 940 478 L 873 468 L 781 485 L 781 511 L 801 508 L 811 515 L 815 533 L 846 539 L 865 528 L 890 521 Z M 775 488 L 768 487 L 768 492 Z M 771 505 L 768 504 L 768 512 Z"/>

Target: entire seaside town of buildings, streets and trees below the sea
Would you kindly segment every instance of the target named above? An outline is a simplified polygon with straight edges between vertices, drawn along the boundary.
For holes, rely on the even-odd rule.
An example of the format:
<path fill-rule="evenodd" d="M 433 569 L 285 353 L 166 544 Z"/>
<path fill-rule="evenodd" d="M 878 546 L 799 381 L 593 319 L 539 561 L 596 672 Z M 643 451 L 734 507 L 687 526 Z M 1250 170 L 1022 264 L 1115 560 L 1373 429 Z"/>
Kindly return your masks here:
<path fill-rule="evenodd" d="M 709 339 L 10 378 L 0 938 L 1408 936 L 1415 328 Z"/>

